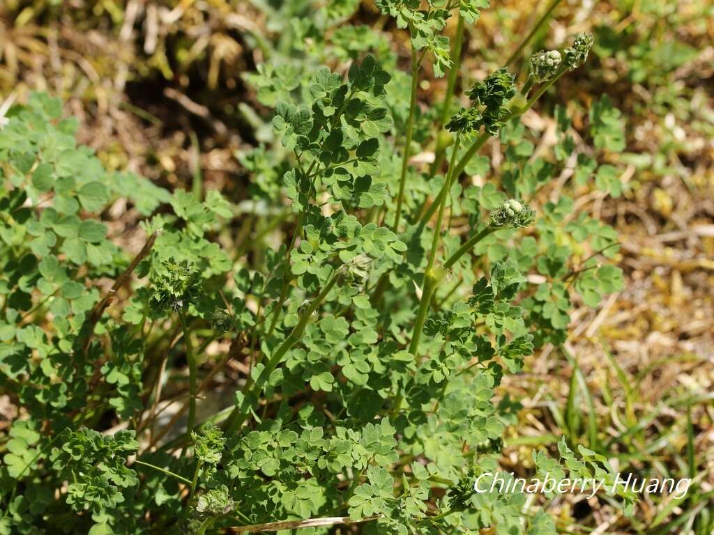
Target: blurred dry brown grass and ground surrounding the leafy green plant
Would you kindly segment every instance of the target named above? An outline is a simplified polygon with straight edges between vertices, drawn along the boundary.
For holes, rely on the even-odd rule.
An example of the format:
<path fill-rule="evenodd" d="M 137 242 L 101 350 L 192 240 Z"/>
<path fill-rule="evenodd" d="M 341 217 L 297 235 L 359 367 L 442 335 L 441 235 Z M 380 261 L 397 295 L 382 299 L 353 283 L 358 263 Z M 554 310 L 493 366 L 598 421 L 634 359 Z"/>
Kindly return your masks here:
<path fill-rule="evenodd" d="M 503 464 L 525 473 L 533 447 L 566 434 L 623 472 L 694 477 L 695 491 L 648 496 L 629 519 L 614 502 L 562 496 L 553 510 L 563 532 L 714 533 L 714 4 L 492 4 L 467 29 L 466 80 L 503 64 L 553 8 L 533 50 L 578 31 L 591 31 L 595 48 L 523 121 L 553 144 L 555 103 L 567 103 L 584 132 L 590 103 L 607 93 L 626 126 L 623 150 L 610 155 L 625 168 L 623 195 L 583 190 L 576 199 L 620 232 L 625 290 L 599 310 L 575 311 L 567 352 L 545 347 L 504 380 L 501 395 L 522 408 Z M 110 169 L 170 188 L 205 183 L 241 203 L 251 183 L 278 173 L 256 147 L 271 147 L 267 106 L 296 88 L 301 71 L 341 68 L 363 51 L 406 71 L 406 39 L 368 0 L 4 0 L 0 101 L 53 93 Z M 273 86 L 269 66 L 277 66 Z M 444 78 L 421 81 L 423 110 L 445 88 Z M 491 164 L 499 161 L 494 143 Z M 114 222 L 117 243 L 138 218 Z"/>

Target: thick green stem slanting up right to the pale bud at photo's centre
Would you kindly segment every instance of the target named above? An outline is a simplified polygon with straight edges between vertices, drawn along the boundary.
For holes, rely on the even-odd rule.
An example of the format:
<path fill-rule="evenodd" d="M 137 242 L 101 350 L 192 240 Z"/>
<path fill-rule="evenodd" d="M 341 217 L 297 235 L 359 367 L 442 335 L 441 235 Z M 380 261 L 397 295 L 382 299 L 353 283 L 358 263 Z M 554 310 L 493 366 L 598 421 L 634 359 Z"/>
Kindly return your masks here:
<path fill-rule="evenodd" d="M 266 364 L 266 367 L 263 368 L 263 371 L 258 376 L 258 379 L 256 379 L 256 381 L 252 384 L 246 382 L 246 388 L 244 388 L 245 394 L 243 396 L 243 402 L 241 403 L 241 406 L 233 409 L 233 412 L 231 412 L 231 415 L 226 420 L 226 429 L 228 429 L 228 431 L 236 431 L 236 429 L 240 429 L 243 422 L 246 421 L 246 418 L 248 417 L 248 409 L 250 409 L 249 404 L 251 403 L 251 398 L 253 397 L 253 394 L 258 394 L 258 392 L 261 392 L 263 386 L 268 381 L 268 378 L 271 376 L 276 367 L 278 367 L 278 364 L 283 359 L 285 354 L 289 350 L 291 350 L 293 345 L 300 341 L 303 332 L 305 331 L 305 327 L 308 325 L 308 322 L 310 321 L 310 318 L 313 315 L 313 312 L 315 312 L 322 304 L 323 300 L 325 300 L 327 295 L 331 292 L 332 288 L 334 287 L 334 285 L 336 285 L 340 277 L 340 272 L 335 272 L 332 275 L 331 279 L 325 285 L 323 290 L 318 294 L 317 297 L 315 297 L 315 299 L 312 300 L 310 306 L 300 316 L 298 324 L 293 327 L 293 330 L 290 332 L 290 335 L 288 335 L 288 337 L 283 340 L 281 345 L 277 347 L 275 352 L 273 352 L 270 357 L 270 360 L 268 360 Z"/>

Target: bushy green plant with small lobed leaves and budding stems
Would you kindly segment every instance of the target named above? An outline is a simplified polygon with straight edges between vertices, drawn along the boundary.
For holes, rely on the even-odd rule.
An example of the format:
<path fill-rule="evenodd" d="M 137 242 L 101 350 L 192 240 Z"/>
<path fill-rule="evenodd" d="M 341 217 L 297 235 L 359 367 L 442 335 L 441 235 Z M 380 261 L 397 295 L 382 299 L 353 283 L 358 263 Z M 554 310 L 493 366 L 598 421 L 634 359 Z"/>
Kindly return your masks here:
<path fill-rule="evenodd" d="M 538 134 L 519 120 L 583 64 L 585 35 L 533 56 L 522 84 L 499 68 L 465 92 L 468 103 L 452 95 L 461 47 L 442 31 L 453 14 L 463 31 L 485 4 L 378 2 L 411 37 L 408 98 L 386 52 L 383 66 L 343 50 L 354 57 L 343 73 L 311 68 L 320 49 L 291 86 L 269 66 L 250 77 L 275 108 L 276 134 L 241 155 L 251 200 L 274 209 L 253 239 L 236 233 L 238 207 L 216 190 L 169 193 L 106 173 L 76 146 L 59 101 L 34 95 L 11 109 L 0 131 L 0 386 L 23 416 L 4 444 L 3 533 L 60 518 L 94 534 L 338 522 L 398 534 L 555 531 L 523 494 L 469 489 L 498 469 L 513 409 L 493 402 L 503 374 L 564 342 L 573 300 L 594 306 L 620 287 L 606 261 L 614 230 L 574 213 L 565 193 L 542 193 L 572 171 L 569 187 L 594 181 L 617 194 L 618 168 L 600 157 L 618 150 L 623 125 L 603 98 L 585 150 L 559 106 L 557 143 L 536 153 Z M 449 72 L 439 113 L 417 106 L 426 58 L 436 76 Z M 477 154 L 491 138 L 505 149 L 498 170 Z M 434 164 L 411 165 L 427 147 Z M 464 173 L 489 180 L 468 185 Z M 146 216 L 134 255 L 108 238 L 107 207 L 127 191 Z M 216 340 L 228 347 L 217 358 Z M 201 392 L 228 360 L 248 370 L 231 407 L 199 417 Z M 169 382 L 180 408 L 162 423 Z M 611 472 L 589 449 L 575 459 L 578 445 L 559 444 L 567 469 Z M 560 466 L 541 453 L 538 468 Z"/>

